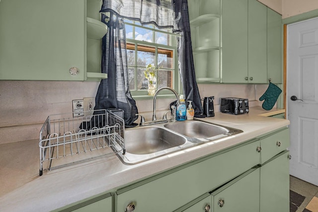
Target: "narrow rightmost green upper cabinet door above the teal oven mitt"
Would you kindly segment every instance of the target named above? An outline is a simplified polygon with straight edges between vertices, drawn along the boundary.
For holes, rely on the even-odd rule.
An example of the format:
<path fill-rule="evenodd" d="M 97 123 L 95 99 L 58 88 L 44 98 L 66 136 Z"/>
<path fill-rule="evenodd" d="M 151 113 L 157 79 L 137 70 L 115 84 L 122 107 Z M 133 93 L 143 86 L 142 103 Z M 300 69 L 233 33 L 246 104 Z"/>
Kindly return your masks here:
<path fill-rule="evenodd" d="M 267 74 L 272 83 L 282 82 L 282 16 L 267 8 Z"/>

